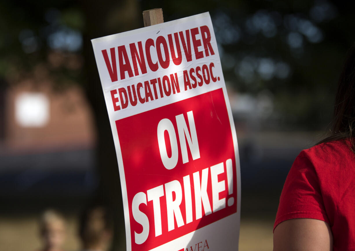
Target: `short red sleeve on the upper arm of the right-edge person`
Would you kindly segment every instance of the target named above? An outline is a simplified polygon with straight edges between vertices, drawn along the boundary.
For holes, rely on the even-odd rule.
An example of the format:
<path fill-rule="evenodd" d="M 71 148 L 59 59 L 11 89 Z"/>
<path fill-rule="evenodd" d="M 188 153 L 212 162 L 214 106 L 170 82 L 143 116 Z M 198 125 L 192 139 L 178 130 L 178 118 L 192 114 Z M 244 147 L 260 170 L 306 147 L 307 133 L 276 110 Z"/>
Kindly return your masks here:
<path fill-rule="evenodd" d="M 329 223 L 317 173 L 304 151 L 297 156 L 286 178 L 274 229 L 282 221 L 297 218 L 317 219 Z"/>

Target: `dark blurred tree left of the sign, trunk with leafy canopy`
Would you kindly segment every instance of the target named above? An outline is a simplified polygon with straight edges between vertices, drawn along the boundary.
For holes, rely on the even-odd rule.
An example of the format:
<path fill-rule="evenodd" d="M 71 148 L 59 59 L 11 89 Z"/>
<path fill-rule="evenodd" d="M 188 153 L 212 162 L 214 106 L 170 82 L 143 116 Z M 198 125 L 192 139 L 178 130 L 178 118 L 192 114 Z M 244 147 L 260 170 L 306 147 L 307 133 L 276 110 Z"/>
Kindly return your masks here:
<path fill-rule="evenodd" d="M 140 12 L 138 2 L 130 0 L 0 3 L 0 77 L 15 85 L 26 78 L 37 80 L 40 70 L 57 91 L 78 84 L 86 92 L 98 136 L 95 197 L 107 201 L 115 212 L 114 250 L 125 250 L 122 194 L 90 39 L 138 28 Z"/>

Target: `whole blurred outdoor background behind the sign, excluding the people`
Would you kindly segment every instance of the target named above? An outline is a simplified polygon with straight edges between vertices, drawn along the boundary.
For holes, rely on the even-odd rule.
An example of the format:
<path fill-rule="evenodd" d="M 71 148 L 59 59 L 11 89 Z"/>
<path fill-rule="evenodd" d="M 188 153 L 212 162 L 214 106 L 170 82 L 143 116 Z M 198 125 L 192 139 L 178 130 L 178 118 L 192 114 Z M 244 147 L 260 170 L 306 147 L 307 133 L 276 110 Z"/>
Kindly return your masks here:
<path fill-rule="evenodd" d="M 90 39 L 209 11 L 241 161 L 241 251 L 272 250 L 285 177 L 326 134 L 354 1 L 52 0 L 0 2 L 0 250 L 39 250 L 38 218 L 67 219 L 94 198 L 114 210 L 112 250 L 125 250 L 119 173 Z"/>

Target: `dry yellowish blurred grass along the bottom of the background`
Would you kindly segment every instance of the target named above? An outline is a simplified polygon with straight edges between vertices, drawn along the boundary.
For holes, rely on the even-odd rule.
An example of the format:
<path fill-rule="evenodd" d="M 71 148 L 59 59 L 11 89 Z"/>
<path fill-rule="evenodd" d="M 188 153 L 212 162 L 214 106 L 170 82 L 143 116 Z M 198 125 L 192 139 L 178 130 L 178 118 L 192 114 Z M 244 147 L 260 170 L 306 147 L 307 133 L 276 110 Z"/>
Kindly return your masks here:
<path fill-rule="evenodd" d="M 75 215 L 67 216 L 67 238 L 65 250 L 80 248 L 77 240 L 77 221 Z M 272 221 L 242 219 L 240 226 L 240 251 L 272 250 Z M 9 216 L 0 217 L 0 251 L 36 251 L 40 247 L 37 217 Z"/>

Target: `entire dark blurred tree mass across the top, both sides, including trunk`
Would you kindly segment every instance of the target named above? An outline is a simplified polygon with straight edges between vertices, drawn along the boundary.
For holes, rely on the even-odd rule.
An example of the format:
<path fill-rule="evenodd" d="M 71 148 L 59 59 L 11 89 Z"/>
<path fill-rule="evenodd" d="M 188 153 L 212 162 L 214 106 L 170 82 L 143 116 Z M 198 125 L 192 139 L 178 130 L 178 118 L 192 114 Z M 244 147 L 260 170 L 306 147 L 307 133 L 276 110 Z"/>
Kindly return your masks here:
<path fill-rule="evenodd" d="M 98 196 L 116 211 L 115 250 L 125 242 L 119 173 L 90 39 L 142 27 L 141 11 L 156 7 L 165 21 L 210 12 L 227 84 L 271 96 L 278 130 L 327 125 L 355 41 L 354 1 L 1 1 L 0 85 L 45 74 L 59 91 L 70 84 L 86 91 L 98 133 Z"/>

